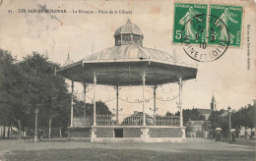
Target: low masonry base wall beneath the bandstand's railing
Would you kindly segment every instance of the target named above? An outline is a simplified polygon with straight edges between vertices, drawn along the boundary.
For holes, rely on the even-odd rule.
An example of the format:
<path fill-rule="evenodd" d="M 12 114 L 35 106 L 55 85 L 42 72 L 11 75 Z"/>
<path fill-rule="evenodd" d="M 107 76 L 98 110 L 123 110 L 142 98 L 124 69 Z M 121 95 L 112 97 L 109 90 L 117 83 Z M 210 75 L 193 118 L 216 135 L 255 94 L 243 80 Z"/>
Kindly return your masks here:
<path fill-rule="evenodd" d="M 185 127 L 69 127 L 68 140 L 87 142 L 183 142 Z"/>

